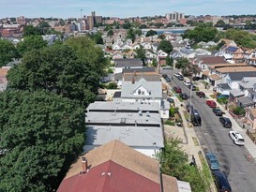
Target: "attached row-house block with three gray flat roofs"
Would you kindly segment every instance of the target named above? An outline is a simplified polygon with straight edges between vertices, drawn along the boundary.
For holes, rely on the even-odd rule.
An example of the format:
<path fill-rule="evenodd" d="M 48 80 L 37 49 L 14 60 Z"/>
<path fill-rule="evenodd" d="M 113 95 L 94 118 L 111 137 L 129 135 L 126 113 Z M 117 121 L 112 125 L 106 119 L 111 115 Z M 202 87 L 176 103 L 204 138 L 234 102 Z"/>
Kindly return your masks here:
<path fill-rule="evenodd" d="M 86 109 L 85 123 L 84 152 L 111 140 L 152 157 L 164 147 L 158 103 L 96 101 Z"/>

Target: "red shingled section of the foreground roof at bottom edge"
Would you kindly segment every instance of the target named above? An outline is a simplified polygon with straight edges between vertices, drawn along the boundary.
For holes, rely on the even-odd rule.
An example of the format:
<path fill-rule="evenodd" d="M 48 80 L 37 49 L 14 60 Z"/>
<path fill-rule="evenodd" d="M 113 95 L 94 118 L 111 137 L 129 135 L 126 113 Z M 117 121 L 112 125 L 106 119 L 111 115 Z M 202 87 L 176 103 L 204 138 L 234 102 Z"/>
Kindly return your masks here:
<path fill-rule="evenodd" d="M 106 161 L 65 179 L 57 192 L 159 192 L 160 185 L 127 168 Z"/>

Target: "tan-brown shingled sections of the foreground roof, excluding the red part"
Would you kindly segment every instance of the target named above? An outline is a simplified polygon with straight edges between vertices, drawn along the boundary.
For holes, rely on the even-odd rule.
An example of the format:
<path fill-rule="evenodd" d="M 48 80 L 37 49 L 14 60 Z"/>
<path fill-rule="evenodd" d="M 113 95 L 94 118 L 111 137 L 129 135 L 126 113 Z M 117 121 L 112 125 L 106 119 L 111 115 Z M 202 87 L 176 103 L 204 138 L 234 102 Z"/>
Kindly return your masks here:
<path fill-rule="evenodd" d="M 147 178 L 154 183 L 160 184 L 158 161 L 137 152 L 119 140 L 108 142 L 107 144 L 89 151 L 83 156 L 86 157 L 88 167 L 90 169 L 94 169 L 97 166 L 111 160 L 113 163 L 131 170 L 141 175 L 143 178 Z M 72 178 L 73 176 L 79 177 L 79 173 L 82 171 L 81 159 L 82 156 L 70 166 L 65 180 Z M 172 188 L 172 191 L 176 192 L 178 188 L 176 179 L 167 175 L 163 175 L 163 186 L 165 189 L 164 191 L 171 191 L 169 189 Z"/>

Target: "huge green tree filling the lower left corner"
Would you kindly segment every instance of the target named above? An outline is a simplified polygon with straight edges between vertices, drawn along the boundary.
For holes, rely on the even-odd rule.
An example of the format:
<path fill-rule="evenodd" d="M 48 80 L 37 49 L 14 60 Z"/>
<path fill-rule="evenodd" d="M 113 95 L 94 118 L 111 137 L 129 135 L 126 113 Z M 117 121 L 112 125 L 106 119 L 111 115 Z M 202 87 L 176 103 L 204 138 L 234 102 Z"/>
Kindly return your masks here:
<path fill-rule="evenodd" d="M 83 109 L 45 91 L 6 91 L 0 107 L 0 191 L 55 191 L 83 151 Z"/>

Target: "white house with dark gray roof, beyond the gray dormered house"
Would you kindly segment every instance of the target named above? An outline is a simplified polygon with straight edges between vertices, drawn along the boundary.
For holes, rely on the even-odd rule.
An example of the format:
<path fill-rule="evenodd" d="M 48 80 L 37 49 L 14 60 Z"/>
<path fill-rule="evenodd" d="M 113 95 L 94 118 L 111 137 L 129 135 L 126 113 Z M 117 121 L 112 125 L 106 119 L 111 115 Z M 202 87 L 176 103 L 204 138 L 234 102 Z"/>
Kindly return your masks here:
<path fill-rule="evenodd" d="M 140 58 L 132 59 L 115 59 L 114 73 L 122 73 L 124 68 L 143 68 L 143 62 Z"/>

